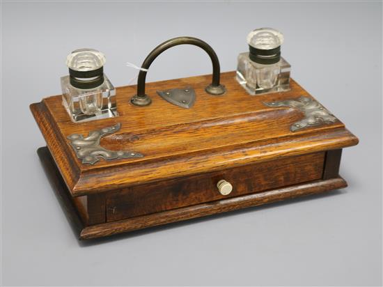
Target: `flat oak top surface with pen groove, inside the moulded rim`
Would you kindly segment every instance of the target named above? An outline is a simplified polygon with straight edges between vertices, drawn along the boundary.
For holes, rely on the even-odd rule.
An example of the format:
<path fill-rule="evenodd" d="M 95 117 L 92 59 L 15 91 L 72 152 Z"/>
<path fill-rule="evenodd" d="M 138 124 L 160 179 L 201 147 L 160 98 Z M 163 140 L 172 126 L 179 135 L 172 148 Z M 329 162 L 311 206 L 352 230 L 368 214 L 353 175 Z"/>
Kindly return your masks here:
<path fill-rule="evenodd" d="M 86 123 L 70 121 L 61 104 L 60 95 L 46 98 L 44 102 L 64 138 L 70 134 L 83 134 L 86 137 L 91 130 L 121 123 L 118 132 L 102 138 L 102 146 L 111 150 L 134 150 L 144 155 L 135 159 L 100 160 L 93 166 L 81 164 L 77 160 L 81 170 L 89 170 L 126 162 L 153 160 L 169 156 L 169 153 L 192 153 L 219 146 L 286 136 L 291 133 L 290 125 L 299 121 L 302 113 L 286 107 L 267 107 L 263 102 L 297 98 L 300 95 L 309 96 L 294 81 L 291 82 L 291 91 L 251 96 L 237 84 L 235 72 L 221 74 L 221 83 L 228 91 L 225 95 L 213 96 L 205 92 L 205 86 L 210 82 L 211 75 L 205 75 L 148 83 L 147 94 L 153 102 L 147 107 L 136 107 L 130 103 L 130 97 L 136 93 L 135 85 L 117 88 L 119 116 Z M 192 86 L 196 91 L 196 102 L 191 109 L 170 104 L 156 93 L 157 90 L 185 86 Z M 343 124 L 336 122 L 331 124 L 331 127 L 334 125 Z M 302 130 L 302 133 L 329 126 L 309 128 Z"/>

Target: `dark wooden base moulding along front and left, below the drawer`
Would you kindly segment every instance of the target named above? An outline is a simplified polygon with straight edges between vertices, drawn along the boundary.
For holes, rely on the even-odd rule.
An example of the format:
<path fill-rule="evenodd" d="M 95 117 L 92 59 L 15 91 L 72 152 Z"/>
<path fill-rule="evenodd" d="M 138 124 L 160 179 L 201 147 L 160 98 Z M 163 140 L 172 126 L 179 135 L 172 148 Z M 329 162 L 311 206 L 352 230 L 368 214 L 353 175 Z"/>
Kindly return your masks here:
<path fill-rule="evenodd" d="M 308 183 L 290 185 L 288 187 L 277 189 L 269 189 L 265 192 L 247 194 L 230 199 L 221 199 L 209 203 L 190 205 L 187 207 L 175 208 L 173 210 L 155 212 L 149 215 L 122 219 L 115 222 L 88 225 L 87 223 L 84 223 L 84 219 L 82 219 L 83 217 L 81 217 L 80 214 L 81 211 L 77 208 L 77 205 L 73 201 L 68 187 L 65 185 L 48 148 L 39 148 L 38 155 L 52 188 L 56 192 L 59 201 L 61 201 L 63 210 L 65 210 L 70 223 L 81 240 L 100 238 L 117 233 L 135 231 L 151 226 L 159 226 L 171 222 L 180 222 L 187 219 L 214 215 L 221 212 L 239 210 L 265 203 L 273 203 L 285 199 L 293 199 L 298 196 L 318 194 L 332 189 L 347 187 L 347 183 L 341 177 L 313 180 Z M 324 175 L 323 178 L 327 178 L 327 176 Z"/>

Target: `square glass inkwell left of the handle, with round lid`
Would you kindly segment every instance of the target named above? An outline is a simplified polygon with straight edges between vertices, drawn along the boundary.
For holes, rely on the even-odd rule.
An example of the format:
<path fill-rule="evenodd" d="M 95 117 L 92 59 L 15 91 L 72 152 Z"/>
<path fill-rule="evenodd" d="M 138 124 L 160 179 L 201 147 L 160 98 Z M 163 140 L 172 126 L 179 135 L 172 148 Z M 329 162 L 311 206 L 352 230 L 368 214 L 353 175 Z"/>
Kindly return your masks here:
<path fill-rule="evenodd" d="M 105 56 L 95 49 L 77 49 L 67 57 L 69 75 L 61 77 L 63 105 L 75 122 L 118 116 L 116 90 L 104 74 Z"/>

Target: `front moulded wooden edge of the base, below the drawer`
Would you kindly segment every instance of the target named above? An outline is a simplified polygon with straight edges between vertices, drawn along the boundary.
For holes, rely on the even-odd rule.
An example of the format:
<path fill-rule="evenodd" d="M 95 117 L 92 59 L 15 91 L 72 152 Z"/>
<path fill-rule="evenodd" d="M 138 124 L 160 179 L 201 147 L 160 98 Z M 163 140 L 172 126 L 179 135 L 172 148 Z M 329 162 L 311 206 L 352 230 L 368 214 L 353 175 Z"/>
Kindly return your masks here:
<path fill-rule="evenodd" d="M 340 177 L 329 180 L 315 180 L 309 183 L 238 196 L 231 199 L 214 201 L 212 203 L 203 203 L 186 208 L 177 208 L 174 210 L 153 213 L 151 215 L 124 219 L 118 222 L 88 226 L 81 231 L 79 238 L 81 240 L 100 238 L 152 226 L 180 222 L 197 217 L 205 217 L 221 212 L 249 208 L 251 206 L 263 205 L 286 199 L 294 199 L 298 196 L 318 194 L 320 192 L 327 192 L 332 189 L 340 189 L 344 187 L 347 187 L 347 183 Z"/>

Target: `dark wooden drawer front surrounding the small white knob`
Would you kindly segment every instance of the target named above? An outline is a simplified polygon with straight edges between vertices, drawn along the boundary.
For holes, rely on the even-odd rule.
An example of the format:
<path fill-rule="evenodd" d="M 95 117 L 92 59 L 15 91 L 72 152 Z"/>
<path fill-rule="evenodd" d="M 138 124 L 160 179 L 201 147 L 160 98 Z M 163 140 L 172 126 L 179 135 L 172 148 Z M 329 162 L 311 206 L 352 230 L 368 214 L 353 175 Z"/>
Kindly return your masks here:
<path fill-rule="evenodd" d="M 318 180 L 324 162 L 325 152 L 312 153 L 121 189 L 107 194 L 107 222 Z M 230 194 L 219 192 L 220 180 Z"/>

